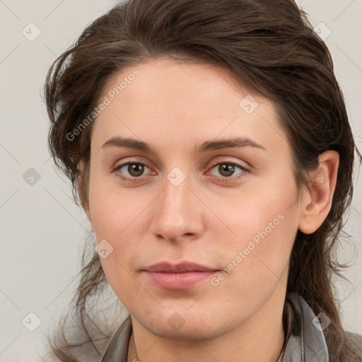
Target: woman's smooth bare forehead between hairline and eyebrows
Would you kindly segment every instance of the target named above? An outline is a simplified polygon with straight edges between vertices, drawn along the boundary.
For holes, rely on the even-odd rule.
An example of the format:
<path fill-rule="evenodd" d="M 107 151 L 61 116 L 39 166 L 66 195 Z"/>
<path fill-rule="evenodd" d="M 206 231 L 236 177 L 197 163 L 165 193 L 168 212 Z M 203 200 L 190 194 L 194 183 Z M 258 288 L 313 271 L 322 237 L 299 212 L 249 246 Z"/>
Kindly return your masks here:
<path fill-rule="evenodd" d="M 110 77 L 102 100 L 107 106 L 94 124 L 96 148 L 116 135 L 159 144 L 168 139 L 175 148 L 218 136 L 246 136 L 271 148 L 272 141 L 286 142 L 274 105 L 211 64 L 151 59 L 129 66 Z"/>

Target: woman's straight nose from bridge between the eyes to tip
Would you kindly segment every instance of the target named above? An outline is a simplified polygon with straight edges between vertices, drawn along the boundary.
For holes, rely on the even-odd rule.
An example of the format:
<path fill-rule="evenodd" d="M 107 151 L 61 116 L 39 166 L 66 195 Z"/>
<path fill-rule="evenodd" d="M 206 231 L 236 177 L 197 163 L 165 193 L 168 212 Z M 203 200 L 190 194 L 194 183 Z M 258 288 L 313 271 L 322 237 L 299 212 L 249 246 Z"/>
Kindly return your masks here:
<path fill-rule="evenodd" d="M 202 216 L 199 213 L 202 211 L 191 189 L 192 177 L 180 168 L 173 168 L 165 175 L 163 192 L 153 215 L 153 233 L 175 240 L 186 233 L 200 232 Z"/>

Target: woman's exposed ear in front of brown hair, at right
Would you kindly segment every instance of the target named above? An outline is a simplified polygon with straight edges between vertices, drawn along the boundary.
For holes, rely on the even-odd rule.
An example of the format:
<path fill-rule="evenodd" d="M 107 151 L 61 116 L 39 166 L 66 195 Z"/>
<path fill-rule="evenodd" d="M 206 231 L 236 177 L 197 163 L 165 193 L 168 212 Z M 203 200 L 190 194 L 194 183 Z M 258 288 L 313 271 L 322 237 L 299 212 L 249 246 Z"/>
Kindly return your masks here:
<path fill-rule="evenodd" d="M 300 203 L 299 230 L 305 234 L 314 233 L 327 217 L 337 183 L 339 153 L 325 151 L 318 157 L 317 170 L 309 173 L 310 192 L 303 194 Z"/>

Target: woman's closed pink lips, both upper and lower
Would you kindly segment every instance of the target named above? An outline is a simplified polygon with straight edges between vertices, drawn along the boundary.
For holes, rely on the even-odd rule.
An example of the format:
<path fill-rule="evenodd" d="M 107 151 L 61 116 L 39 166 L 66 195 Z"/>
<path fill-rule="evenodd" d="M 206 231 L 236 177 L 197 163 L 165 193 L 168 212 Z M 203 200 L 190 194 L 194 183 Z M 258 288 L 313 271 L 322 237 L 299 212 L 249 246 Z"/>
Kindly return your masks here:
<path fill-rule="evenodd" d="M 211 278 L 219 270 L 192 262 L 170 264 L 160 262 L 142 270 L 156 286 L 167 289 L 188 289 Z"/>

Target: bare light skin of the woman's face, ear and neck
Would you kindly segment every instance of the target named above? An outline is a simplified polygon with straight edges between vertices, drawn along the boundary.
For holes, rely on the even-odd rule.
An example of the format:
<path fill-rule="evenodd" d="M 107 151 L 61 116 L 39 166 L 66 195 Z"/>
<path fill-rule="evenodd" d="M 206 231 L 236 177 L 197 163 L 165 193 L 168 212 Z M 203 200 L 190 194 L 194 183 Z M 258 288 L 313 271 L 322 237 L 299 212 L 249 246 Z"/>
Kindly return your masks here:
<path fill-rule="evenodd" d="M 122 69 L 100 99 L 135 68 L 139 76 L 93 125 L 86 204 L 98 243 L 113 247 L 101 258 L 107 280 L 132 317 L 128 361 L 275 362 L 284 342 L 293 241 L 298 229 L 313 233 L 325 220 L 338 153 L 320 155 L 310 174 L 312 192 L 298 198 L 291 148 L 269 100 L 253 95 L 259 105 L 248 115 L 239 103 L 252 93 L 235 86 L 228 71 L 170 59 Z M 102 148 L 112 136 L 144 141 L 154 152 Z M 204 141 L 235 136 L 265 150 L 194 151 Z M 144 173 L 137 176 L 127 165 L 114 171 L 127 162 L 146 165 Z M 228 177 L 219 163 L 249 171 L 235 166 Z M 177 187 L 167 177 L 175 167 L 186 176 Z M 186 290 L 165 289 L 141 271 L 160 261 L 223 270 L 280 214 L 283 221 L 217 286 L 206 279 Z M 174 313 L 185 322 L 178 330 L 168 324 Z"/>

